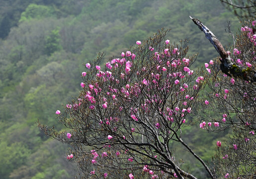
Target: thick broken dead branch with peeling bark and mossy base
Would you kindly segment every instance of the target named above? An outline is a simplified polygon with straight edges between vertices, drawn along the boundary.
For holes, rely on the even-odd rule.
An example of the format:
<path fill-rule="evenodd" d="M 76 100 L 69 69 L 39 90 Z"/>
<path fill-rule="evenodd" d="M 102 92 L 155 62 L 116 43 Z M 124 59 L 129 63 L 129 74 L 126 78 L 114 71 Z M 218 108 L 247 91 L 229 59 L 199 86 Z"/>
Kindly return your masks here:
<path fill-rule="evenodd" d="M 230 56 L 225 51 L 221 42 L 217 37 L 199 20 L 189 16 L 200 30 L 205 33 L 206 38 L 213 44 L 214 48 L 220 54 L 221 71 L 230 77 L 240 78 L 250 83 L 256 82 L 256 71 L 252 68 L 245 68 L 237 66 L 232 62 Z"/>

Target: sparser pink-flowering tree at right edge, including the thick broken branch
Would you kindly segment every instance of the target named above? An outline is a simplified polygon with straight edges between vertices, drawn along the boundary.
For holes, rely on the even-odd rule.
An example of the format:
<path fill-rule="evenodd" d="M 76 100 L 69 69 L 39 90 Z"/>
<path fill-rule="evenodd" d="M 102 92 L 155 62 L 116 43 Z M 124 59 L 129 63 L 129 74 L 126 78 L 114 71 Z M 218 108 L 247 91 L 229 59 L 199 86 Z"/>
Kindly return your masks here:
<path fill-rule="evenodd" d="M 199 104 L 200 128 L 210 132 L 230 131 L 226 145 L 217 141 L 213 162 L 217 175 L 225 178 L 255 178 L 256 168 L 256 21 L 249 20 L 234 38 L 233 53 L 198 19 L 192 20 L 205 32 L 222 58 L 205 63 L 208 90 Z M 223 73 L 220 73 L 222 71 Z M 208 100 L 209 101 L 208 101 Z M 203 107 L 202 107 L 203 106 Z M 212 127 L 212 125 L 217 126 Z"/>

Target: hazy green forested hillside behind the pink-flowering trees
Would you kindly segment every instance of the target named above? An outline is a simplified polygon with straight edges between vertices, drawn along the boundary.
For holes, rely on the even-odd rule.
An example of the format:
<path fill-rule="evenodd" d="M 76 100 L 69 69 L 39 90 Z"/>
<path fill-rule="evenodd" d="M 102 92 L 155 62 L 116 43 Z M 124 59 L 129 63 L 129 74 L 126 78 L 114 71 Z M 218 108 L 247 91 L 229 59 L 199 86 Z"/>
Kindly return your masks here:
<path fill-rule="evenodd" d="M 189 15 L 199 18 L 223 44 L 232 44 L 239 20 L 219 0 L 0 0 L 0 178 L 72 179 L 68 146 L 49 139 L 36 126 L 62 125 L 55 111 L 81 89 L 82 64 L 105 52 L 105 62 L 144 40 L 157 29 L 171 28 L 166 39 L 190 39 L 190 54 L 199 52 L 194 68 L 218 56 Z M 187 128 L 185 140 L 211 162 L 216 140 L 199 124 Z M 179 146 L 176 156 L 199 179 L 203 166 Z M 181 161 L 182 162 L 182 161 Z"/>

